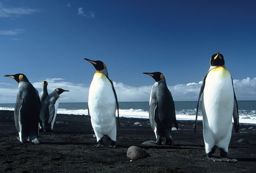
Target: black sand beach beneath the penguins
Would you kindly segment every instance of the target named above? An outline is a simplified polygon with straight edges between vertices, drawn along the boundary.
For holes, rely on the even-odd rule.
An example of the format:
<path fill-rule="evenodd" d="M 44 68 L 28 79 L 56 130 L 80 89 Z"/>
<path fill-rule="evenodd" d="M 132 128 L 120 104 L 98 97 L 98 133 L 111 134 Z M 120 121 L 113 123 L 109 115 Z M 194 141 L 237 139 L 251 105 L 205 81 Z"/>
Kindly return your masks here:
<path fill-rule="evenodd" d="M 53 132 L 39 133 L 40 144 L 21 143 L 13 111 L 0 110 L 0 172 L 256 172 L 256 130 L 248 129 L 255 124 L 240 124 L 238 133 L 233 129 L 228 150 L 238 160 L 233 163 L 206 159 L 201 122 L 194 133 L 194 121 L 178 120 L 173 145 L 149 146 L 141 144 L 155 140 L 148 119 L 122 117 L 117 147 L 95 148 L 87 115 L 57 114 L 56 121 Z M 130 161 L 126 151 L 132 145 L 149 156 Z M 213 155 L 219 156 L 219 150 Z"/>

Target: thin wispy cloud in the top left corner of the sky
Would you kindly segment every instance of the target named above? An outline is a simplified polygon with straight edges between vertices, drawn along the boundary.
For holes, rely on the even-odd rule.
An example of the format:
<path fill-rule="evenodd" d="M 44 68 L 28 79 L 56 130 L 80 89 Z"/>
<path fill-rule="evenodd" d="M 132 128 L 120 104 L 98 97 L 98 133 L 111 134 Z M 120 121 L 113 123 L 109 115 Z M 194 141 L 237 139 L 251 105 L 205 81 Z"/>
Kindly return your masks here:
<path fill-rule="evenodd" d="M 27 7 L 5 7 L 0 3 L 0 17 L 21 17 L 24 14 L 32 14 L 34 12 L 39 12 L 38 9 L 31 9 Z"/>

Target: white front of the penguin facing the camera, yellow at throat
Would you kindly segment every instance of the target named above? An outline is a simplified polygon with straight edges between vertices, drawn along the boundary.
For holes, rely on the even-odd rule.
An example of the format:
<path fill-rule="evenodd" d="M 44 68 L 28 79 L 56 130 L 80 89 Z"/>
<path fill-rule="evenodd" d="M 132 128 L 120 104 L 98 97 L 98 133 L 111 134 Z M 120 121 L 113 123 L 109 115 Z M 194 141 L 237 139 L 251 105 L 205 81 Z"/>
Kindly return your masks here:
<path fill-rule="evenodd" d="M 211 69 L 202 96 L 203 136 L 206 153 L 214 145 L 227 151 L 232 130 L 233 86 L 228 70 Z"/>

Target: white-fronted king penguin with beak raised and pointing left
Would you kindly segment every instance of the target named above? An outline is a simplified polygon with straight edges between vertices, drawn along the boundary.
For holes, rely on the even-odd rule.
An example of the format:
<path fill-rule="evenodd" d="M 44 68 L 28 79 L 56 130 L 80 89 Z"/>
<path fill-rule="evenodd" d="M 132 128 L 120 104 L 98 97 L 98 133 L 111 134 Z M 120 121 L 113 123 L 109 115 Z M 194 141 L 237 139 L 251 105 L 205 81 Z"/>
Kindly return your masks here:
<path fill-rule="evenodd" d="M 106 65 L 100 60 L 89 61 L 96 69 L 89 87 L 88 115 L 97 138 L 95 147 L 103 147 L 102 138 L 107 136 L 111 143 L 108 147 L 116 147 L 116 117 L 119 122 L 119 106 L 113 82 L 108 78 Z"/>

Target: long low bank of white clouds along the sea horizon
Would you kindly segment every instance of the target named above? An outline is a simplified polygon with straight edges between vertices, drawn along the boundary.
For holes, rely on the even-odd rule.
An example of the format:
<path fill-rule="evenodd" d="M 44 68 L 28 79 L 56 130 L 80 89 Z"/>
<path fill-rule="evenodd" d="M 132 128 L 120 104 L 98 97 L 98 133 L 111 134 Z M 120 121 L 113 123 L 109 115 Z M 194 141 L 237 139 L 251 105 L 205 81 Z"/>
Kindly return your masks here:
<path fill-rule="evenodd" d="M 72 83 L 63 78 L 45 78 L 33 82 L 33 86 L 40 93 L 42 91 L 42 81 L 48 82 L 48 93 L 55 88 L 69 90 L 60 95 L 60 102 L 87 102 L 89 83 Z M 238 80 L 234 79 L 234 90 L 237 100 L 256 100 L 256 77 L 249 77 Z M 122 82 L 113 81 L 118 101 L 148 101 L 152 85 L 148 86 L 129 86 Z M 13 85 L 12 85 L 13 86 Z M 17 87 L 10 88 L 8 83 L 0 83 L 0 103 L 11 103 L 16 100 Z M 168 86 L 174 101 L 196 101 L 201 87 L 198 83 L 190 82 L 187 84 L 176 84 Z"/>

